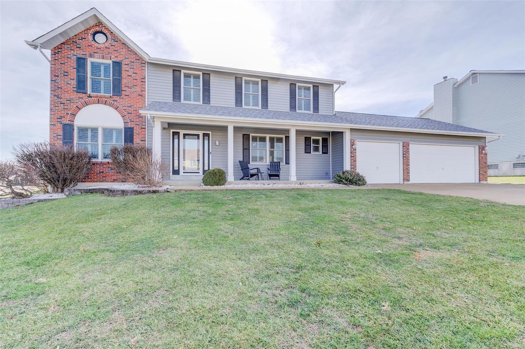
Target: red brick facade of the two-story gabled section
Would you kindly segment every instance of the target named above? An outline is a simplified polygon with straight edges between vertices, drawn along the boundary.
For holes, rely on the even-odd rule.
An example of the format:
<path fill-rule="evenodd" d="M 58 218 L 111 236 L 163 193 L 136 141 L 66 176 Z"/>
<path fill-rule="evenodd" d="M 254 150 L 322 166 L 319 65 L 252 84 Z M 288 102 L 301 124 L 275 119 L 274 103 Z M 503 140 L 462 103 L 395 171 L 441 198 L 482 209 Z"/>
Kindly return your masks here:
<path fill-rule="evenodd" d="M 105 44 L 92 40 L 95 31 L 108 36 Z M 121 96 L 101 96 L 76 91 L 76 57 L 122 62 Z M 89 91 L 88 91 L 89 92 Z M 139 110 L 146 105 L 146 63 L 135 51 L 100 22 L 51 49 L 51 102 L 49 141 L 62 143 L 62 123 L 73 123 L 77 113 L 90 104 L 106 104 L 117 110 L 124 126 L 133 127 L 135 144 L 146 144 L 145 119 Z M 75 136 L 75 135 L 74 135 Z M 75 140 L 74 140 L 75 141 Z M 121 182 L 111 162 L 93 162 L 85 182 Z"/>

